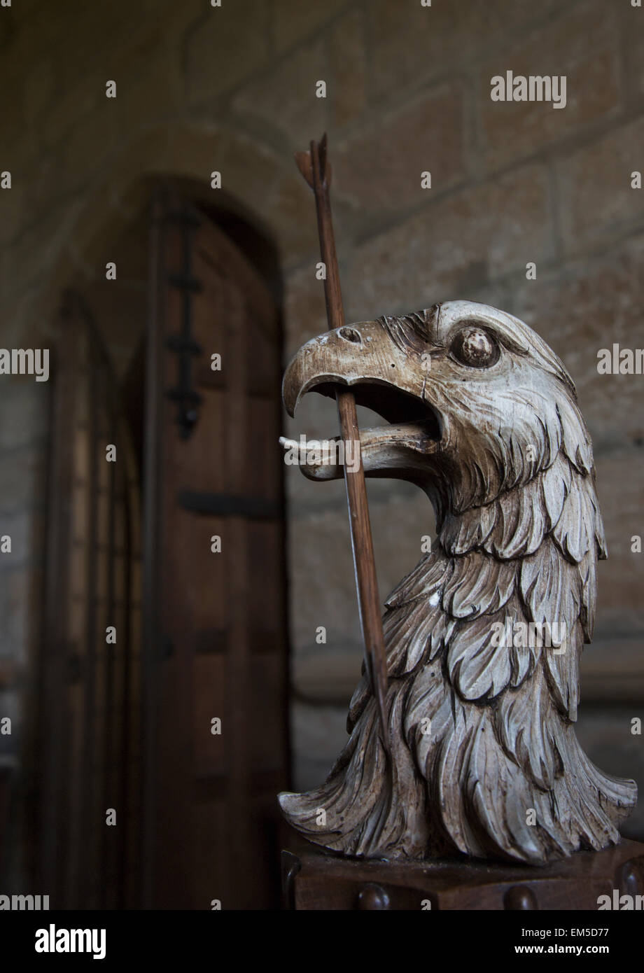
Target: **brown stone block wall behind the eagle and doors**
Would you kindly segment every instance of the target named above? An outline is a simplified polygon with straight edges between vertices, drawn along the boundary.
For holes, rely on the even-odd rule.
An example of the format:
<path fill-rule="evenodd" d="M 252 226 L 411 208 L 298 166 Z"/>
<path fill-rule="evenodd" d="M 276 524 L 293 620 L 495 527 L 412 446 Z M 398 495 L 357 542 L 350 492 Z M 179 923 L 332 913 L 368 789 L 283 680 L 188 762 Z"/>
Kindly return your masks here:
<path fill-rule="evenodd" d="M 103 275 L 105 247 L 140 216 L 148 177 L 207 186 L 219 170 L 279 248 L 288 358 L 325 327 L 312 200 L 291 153 L 326 129 L 348 320 L 468 298 L 517 313 L 553 345 L 590 425 L 611 552 L 599 573 L 605 653 L 588 654 L 583 683 L 600 708 L 583 707 L 584 733 L 602 766 L 612 759 L 640 785 L 628 721 L 644 716 L 644 555 L 630 550 L 642 528 L 643 379 L 598 376 L 596 353 L 642 343 L 644 195 L 630 173 L 643 165 L 643 65 L 644 12 L 628 0 L 0 9 L 0 169 L 12 172 L 0 191 L 3 344 L 47 342 L 61 288 Z M 566 75 L 565 109 L 492 102 L 490 78 L 506 70 Z M 336 421 L 333 403 L 311 398 L 285 427 L 326 436 Z M 342 486 L 286 476 L 296 783 L 307 784 L 340 748 L 361 649 Z M 378 483 L 370 497 L 386 595 L 418 559 L 431 512 L 407 485 Z M 24 531 L 36 563 L 40 536 Z M 26 610 L 16 598 L 18 660 Z"/>

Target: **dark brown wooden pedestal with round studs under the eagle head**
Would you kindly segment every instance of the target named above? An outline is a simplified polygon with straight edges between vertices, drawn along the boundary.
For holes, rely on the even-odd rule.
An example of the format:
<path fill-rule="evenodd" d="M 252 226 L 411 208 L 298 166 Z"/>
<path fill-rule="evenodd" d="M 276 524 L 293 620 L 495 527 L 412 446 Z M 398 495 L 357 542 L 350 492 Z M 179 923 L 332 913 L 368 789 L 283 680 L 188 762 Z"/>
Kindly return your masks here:
<path fill-rule="evenodd" d="M 580 851 L 544 868 L 471 859 L 367 861 L 306 845 L 282 851 L 282 884 L 286 908 L 300 910 L 596 911 L 600 895 L 609 895 L 615 909 L 617 896 L 644 896 L 644 844 Z"/>

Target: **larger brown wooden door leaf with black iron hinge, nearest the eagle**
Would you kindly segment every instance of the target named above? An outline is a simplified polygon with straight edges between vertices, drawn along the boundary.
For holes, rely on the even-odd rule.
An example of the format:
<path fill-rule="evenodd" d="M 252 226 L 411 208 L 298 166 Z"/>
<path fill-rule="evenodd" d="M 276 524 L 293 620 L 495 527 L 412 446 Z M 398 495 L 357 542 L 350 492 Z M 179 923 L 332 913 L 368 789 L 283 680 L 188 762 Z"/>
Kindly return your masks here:
<path fill-rule="evenodd" d="M 160 195 L 151 254 L 147 903 L 267 908 L 288 783 L 279 319 L 193 206 Z"/>

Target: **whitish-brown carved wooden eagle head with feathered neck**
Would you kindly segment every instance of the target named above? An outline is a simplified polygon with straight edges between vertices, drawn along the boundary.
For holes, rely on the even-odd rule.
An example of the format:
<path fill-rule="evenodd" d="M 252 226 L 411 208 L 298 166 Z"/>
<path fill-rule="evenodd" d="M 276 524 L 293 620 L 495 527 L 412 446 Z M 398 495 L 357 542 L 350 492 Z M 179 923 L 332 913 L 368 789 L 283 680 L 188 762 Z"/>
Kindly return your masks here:
<path fill-rule="evenodd" d="M 431 554 L 386 601 L 389 757 L 364 675 L 327 781 L 279 796 L 309 841 L 346 855 L 454 853 L 535 865 L 619 841 L 631 780 L 574 731 L 579 662 L 606 557 L 575 386 L 534 331 L 455 301 L 314 338 L 283 395 L 352 387 L 387 424 L 366 474 L 410 480 L 436 514 Z M 342 476 L 335 453 L 303 472 Z"/>

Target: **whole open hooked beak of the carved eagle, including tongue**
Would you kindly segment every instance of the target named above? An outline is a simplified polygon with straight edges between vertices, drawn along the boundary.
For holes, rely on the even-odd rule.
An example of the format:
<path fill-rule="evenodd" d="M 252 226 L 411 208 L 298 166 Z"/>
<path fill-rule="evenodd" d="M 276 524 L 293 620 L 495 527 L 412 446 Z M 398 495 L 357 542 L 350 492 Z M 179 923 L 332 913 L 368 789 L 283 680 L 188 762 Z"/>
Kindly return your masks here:
<path fill-rule="evenodd" d="M 438 449 L 442 434 L 442 418 L 425 400 L 431 350 L 394 342 L 381 321 L 326 332 L 306 342 L 292 359 L 282 384 L 284 405 L 294 415 L 306 392 L 335 397 L 338 385 L 350 386 L 357 405 L 388 423 L 360 431 L 365 472 L 417 480 L 421 456 Z M 298 445 L 281 442 L 286 449 Z M 312 464 L 303 456 L 304 474 L 316 480 L 342 476 L 332 453 L 323 449 Z"/>

